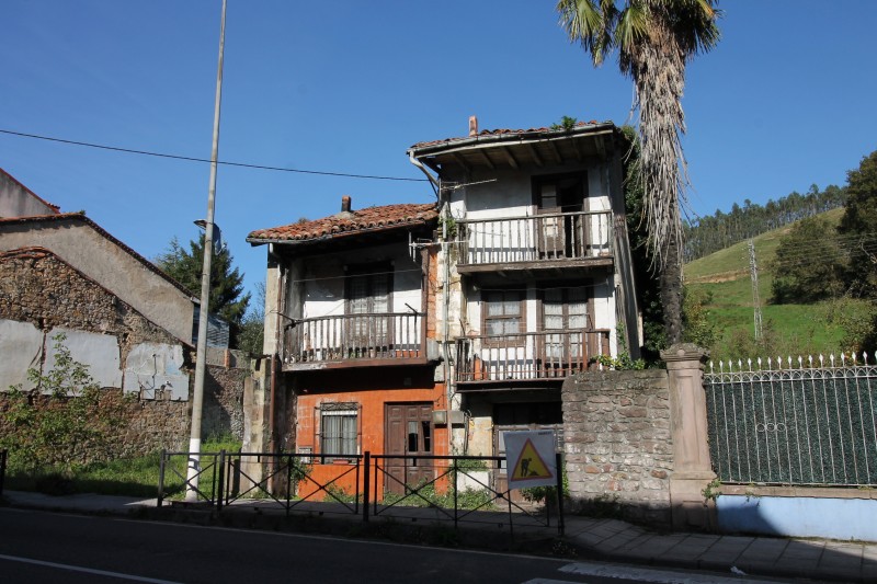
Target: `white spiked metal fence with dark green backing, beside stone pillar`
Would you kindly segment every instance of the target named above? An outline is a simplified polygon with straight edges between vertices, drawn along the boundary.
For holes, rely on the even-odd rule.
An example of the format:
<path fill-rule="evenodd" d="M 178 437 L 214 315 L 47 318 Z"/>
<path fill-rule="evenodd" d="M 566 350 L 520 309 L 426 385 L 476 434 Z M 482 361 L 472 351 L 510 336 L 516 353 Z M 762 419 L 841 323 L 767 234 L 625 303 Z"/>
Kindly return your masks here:
<path fill-rule="evenodd" d="M 866 357 L 710 364 L 704 388 L 722 482 L 877 485 L 877 366 Z"/>

